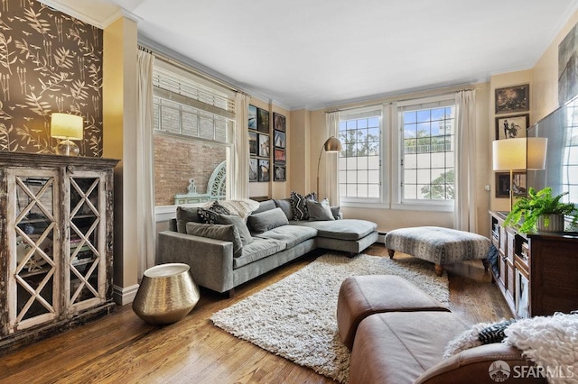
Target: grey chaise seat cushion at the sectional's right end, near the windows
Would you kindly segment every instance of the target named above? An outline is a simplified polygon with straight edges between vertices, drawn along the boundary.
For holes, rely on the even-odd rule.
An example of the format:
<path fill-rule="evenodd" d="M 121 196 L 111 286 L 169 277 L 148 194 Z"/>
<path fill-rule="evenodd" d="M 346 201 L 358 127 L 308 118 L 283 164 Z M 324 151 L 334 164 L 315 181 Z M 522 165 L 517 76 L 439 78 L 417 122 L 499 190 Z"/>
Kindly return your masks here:
<path fill-rule="evenodd" d="M 293 221 L 290 224 L 304 225 L 317 230 L 317 236 L 339 240 L 359 240 L 378 229 L 378 224 L 366 220 L 343 219 L 328 222 Z"/>

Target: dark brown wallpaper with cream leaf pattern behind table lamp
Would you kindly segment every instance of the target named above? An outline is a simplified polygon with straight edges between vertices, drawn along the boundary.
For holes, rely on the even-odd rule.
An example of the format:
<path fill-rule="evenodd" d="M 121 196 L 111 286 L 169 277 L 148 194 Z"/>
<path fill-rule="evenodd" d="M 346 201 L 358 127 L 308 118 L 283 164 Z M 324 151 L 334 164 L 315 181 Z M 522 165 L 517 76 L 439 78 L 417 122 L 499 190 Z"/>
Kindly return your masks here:
<path fill-rule="evenodd" d="M 33 0 L 0 0 L 0 151 L 54 153 L 51 114 L 81 115 L 102 156 L 102 30 Z"/>

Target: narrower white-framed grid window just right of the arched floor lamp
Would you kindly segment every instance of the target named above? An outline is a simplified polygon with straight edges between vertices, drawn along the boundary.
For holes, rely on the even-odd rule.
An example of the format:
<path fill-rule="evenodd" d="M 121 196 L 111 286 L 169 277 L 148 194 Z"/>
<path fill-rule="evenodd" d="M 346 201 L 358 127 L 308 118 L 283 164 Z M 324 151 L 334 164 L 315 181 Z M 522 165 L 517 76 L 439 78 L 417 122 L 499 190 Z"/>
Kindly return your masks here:
<path fill-rule="evenodd" d="M 340 113 L 340 198 L 379 202 L 382 194 L 381 106 Z"/>

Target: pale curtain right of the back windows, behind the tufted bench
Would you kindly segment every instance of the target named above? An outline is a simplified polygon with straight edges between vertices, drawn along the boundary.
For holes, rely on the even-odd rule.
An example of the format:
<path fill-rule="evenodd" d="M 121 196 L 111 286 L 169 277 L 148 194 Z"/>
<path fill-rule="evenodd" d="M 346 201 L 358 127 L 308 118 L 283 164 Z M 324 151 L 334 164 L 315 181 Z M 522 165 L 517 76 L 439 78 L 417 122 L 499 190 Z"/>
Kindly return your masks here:
<path fill-rule="evenodd" d="M 477 233 L 475 156 L 476 90 L 456 92 L 455 209 L 453 226 Z"/>

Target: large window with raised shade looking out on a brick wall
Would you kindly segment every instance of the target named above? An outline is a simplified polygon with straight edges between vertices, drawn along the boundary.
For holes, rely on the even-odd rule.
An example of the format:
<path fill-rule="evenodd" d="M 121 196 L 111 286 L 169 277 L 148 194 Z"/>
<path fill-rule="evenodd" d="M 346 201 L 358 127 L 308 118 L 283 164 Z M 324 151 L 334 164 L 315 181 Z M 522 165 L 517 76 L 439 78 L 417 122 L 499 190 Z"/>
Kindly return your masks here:
<path fill-rule="evenodd" d="M 153 85 L 155 205 L 172 206 L 177 195 L 227 198 L 234 94 L 163 60 L 155 60 Z"/>

